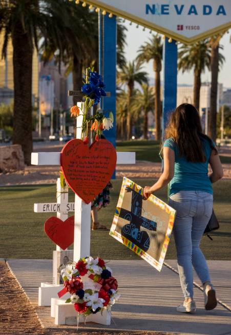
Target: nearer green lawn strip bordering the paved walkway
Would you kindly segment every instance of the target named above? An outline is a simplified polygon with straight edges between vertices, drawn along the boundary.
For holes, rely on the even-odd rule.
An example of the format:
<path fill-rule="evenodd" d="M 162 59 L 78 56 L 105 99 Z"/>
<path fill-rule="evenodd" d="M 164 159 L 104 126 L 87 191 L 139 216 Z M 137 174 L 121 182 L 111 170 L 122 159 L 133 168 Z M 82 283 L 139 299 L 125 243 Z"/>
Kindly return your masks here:
<path fill-rule="evenodd" d="M 127 150 L 127 149 L 126 149 Z M 135 180 L 141 186 L 151 185 L 151 180 Z M 100 210 L 100 223 L 110 228 L 118 201 L 121 180 L 113 181 L 111 204 Z M 220 229 L 214 240 L 202 239 L 202 249 L 207 259 L 231 259 L 231 181 L 221 181 L 214 186 L 214 208 L 220 221 Z M 55 185 L 8 186 L 0 189 L 1 235 L 0 258 L 51 259 L 55 245 L 44 232 L 44 222 L 55 213 L 34 213 L 33 204 L 56 202 Z M 155 193 L 166 201 L 166 189 Z M 69 201 L 74 194 L 69 191 Z M 106 259 L 138 259 L 135 253 L 109 236 L 108 231 L 92 231 L 91 255 Z M 166 259 L 175 259 L 174 239 L 171 240 Z"/>

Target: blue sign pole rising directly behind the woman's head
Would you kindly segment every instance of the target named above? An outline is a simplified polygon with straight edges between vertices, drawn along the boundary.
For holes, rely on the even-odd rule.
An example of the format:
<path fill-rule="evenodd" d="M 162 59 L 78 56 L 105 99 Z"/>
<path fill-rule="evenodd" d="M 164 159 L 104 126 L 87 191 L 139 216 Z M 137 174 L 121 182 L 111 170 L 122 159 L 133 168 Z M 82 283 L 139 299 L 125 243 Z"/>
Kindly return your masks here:
<path fill-rule="evenodd" d="M 165 37 L 163 45 L 163 117 L 162 140 L 170 113 L 177 104 L 177 45 Z"/>

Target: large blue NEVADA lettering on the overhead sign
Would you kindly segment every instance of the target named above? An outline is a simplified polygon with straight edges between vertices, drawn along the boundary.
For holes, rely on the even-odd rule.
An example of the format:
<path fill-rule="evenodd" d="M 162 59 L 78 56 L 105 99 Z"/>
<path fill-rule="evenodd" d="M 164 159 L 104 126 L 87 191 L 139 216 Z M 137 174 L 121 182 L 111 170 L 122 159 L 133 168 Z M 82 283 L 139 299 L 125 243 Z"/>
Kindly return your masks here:
<path fill-rule="evenodd" d="M 225 7 L 223 5 L 219 5 L 216 8 L 213 8 L 210 5 L 202 5 L 196 6 L 191 5 L 190 7 L 186 5 L 169 5 L 169 4 L 153 4 L 149 5 L 146 4 L 145 6 L 145 13 L 146 14 L 153 14 L 153 15 L 170 15 L 171 11 L 174 11 L 177 15 L 211 15 L 213 12 L 216 15 L 226 15 Z"/>

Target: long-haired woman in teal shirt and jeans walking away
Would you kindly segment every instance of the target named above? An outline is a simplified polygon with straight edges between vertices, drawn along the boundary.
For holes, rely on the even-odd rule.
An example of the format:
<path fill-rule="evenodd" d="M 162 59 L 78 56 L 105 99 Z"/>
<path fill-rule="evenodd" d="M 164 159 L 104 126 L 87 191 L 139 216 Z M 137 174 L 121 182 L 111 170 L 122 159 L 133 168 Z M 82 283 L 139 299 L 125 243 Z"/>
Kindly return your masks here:
<path fill-rule="evenodd" d="M 184 302 L 179 312 L 195 312 L 193 267 L 204 289 L 205 309 L 217 306 L 215 289 L 200 249 L 204 229 L 213 210 L 213 187 L 223 176 L 215 143 L 202 133 L 200 116 L 190 104 L 182 104 L 171 114 L 162 149 L 164 170 L 144 197 L 169 184 L 169 205 L 176 209 L 173 228 L 177 264 Z M 208 163 L 212 173 L 208 175 Z"/>

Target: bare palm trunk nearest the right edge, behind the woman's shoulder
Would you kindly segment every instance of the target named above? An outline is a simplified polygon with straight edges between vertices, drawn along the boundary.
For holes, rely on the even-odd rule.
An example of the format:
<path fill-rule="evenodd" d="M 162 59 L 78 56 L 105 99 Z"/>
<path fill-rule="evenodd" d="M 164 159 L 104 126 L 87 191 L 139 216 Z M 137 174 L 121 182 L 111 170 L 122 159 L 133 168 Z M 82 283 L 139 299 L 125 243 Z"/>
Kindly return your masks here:
<path fill-rule="evenodd" d="M 211 50 L 211 92 L 210 92 L 210 113 L 208 122 L 208 135 L 214 141 L 217 138 L 217 84 L 219 69 L 219 44 L 212 46 Z"/>

